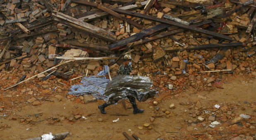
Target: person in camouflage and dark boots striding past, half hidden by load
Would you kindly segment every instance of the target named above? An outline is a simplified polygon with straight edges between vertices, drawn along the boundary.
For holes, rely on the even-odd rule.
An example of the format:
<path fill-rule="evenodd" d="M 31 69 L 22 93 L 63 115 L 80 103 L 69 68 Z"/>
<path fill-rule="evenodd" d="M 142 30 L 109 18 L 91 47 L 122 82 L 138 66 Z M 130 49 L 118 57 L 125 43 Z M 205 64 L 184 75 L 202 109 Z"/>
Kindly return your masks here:
<path fill-rule="evenodd" d="M 132 75 L 131 72 L 132 72 L 133 69 L 131 67 L 131 56 L 130 55 L 125 55 L 124 60 L 125 61 L 123 62 L 123 64 L 120 65 L 119 68 L 118 68 L 118 71 L 117 71 L 118 75 Z M 133 114 L 144 112 L 143 109 L 139 109 L 137 107 L 135 97 L 130 96 L 130 95 L 127 95 L 126 97 L 130 100 L 130 103 L 133 105 Z M 121 98 L 116 98 L 116 99 L 112 100 L 111 102 L 107 101 L 106 103 L 104 103 L 102 105 L 99 105 L 98 108 L 99 108 L 100 112 L 102 114 L 106 114 L 105 107 L 117 103 L 118 100 L 120 100 L 120 99 Z"/>

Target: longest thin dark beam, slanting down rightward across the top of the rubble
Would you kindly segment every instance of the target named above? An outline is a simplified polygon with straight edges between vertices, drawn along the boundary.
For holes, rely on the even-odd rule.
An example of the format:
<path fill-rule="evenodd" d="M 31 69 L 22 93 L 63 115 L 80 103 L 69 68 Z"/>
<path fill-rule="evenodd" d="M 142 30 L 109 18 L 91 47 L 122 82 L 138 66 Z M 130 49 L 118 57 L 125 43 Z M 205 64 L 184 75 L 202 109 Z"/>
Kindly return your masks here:
<path fill-rule="evenodd" d="M 72 2 L 80 3 L 80 4 L 84 4 L 84 5 L 94 5 L 94 3 L 92 3 L 92 2 L 85 2 L 85 1 L 82 1 L 82 0 L 72 0 Z M 196 27 L 193 27 L 193 26 L 187 26 L 187 25 L 177 23 L 177 22 L 174 22 L 174 21 L 169 21 L 169 20 L 166 20 L 166 19 L 159 19 L 159 18 L 154 17 L 154 16 L 149 16 L 149 15 L 140 14 L 140 13 L 136 13 L 136 12 L 131 12 L 131 11 L 128 11 L 128 10 L 123 10 L 123 9 L 118 9 L 118 8 L 110 8 L 110 9 L 115 11 L 115 12 L 128 14 L 130 16 L 137 16 L 137 17 L 140 17 L 140 18 L 149 19 L 149 20 L 157 21 L 157 22 L 161 22 L 161 23 L 167 23 L 167 24 L 170 24 L 172 26 L 176 26 L 176 27 L 183 28 L 183 29 L 186 29 L 186 30 L 193 30 L 193 31 L 196 31 L 198 33 L 204 33 L 204 34 L 207 34 L 207 35 L 211 35 L 213 37 L 217 37 L 217 38 L 221 38 L 221 39 L 225 39 L 225 40 L 229 40 L 229 41 L 233 40 L 232 37 L 229 37 L 229 36 L 226 36 L 226 35 L 222 35 L 222 34 L 219 34 L 219 33 L 208 31 L 208 30 L 196 28 Z"/>

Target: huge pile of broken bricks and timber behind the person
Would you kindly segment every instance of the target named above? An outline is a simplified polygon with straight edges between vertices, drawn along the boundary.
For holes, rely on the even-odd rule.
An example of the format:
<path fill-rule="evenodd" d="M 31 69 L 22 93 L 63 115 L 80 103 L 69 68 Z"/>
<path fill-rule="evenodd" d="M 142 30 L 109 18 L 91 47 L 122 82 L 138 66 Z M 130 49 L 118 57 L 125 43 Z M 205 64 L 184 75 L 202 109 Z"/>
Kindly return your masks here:
<path fill-rule="evenodd" d="M 256 76 L 255 21 L 253 0 L 5 0 L 1 93 L 40 105 L 31 97 L 67 93 L 104 65 L 116 76 L 124 54 L 132 57 L 131 75 L 150 77 L 159 94 L 221 89 L 225 75 Z M 82 60 L 65 63 L 76 57 Z M 75 102 L 87 103 L 83 96 Z M 230 111 L 220 118 L 230 119 Z M 155 117 L 169 114 L 162 110 Z M 203 110 L 188 115 L 193 119 L 184 123 L 216 120 Z M 69 120 L 81 119 L 76 116 Z"/>

